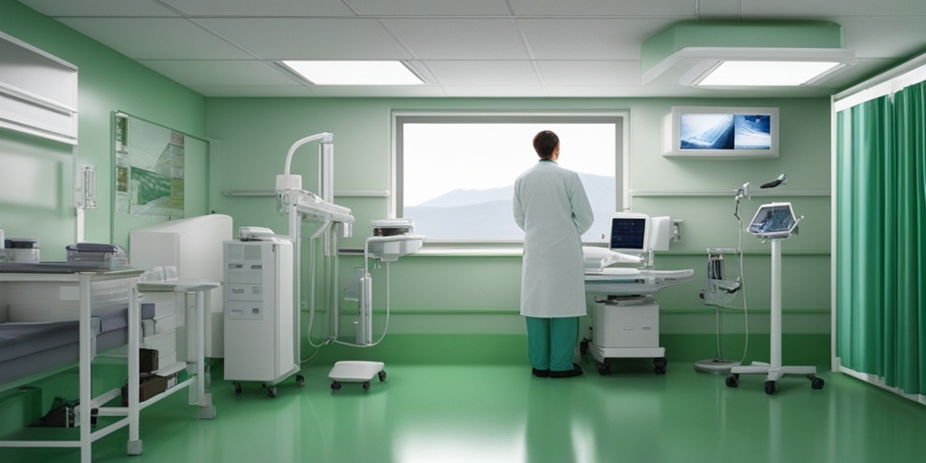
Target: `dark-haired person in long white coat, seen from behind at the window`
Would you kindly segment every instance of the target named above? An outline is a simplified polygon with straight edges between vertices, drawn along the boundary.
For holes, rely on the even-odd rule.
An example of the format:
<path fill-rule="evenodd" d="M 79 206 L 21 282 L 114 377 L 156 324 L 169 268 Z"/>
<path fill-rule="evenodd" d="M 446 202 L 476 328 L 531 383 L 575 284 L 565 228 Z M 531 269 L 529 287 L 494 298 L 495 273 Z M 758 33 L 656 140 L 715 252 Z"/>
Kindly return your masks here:
<path fill-rule="evenodd" d="M 520 313 L 528 359 L 535 376 L 579 376 L 572 354 L 586 314 L 582 233 L 594 215 L 579 174 L 557 165 L 557 134 L 537 133 L 533 148 L 540 161 L 515 181 L 513 206 L 524 231 Z"/>

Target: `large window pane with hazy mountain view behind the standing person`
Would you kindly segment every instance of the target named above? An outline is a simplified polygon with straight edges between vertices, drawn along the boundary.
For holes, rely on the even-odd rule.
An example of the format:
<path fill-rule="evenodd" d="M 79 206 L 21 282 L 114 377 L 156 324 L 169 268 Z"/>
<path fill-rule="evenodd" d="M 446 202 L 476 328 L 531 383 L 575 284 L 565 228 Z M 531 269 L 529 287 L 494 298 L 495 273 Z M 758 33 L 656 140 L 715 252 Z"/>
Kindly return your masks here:
<path fill-rule="evenodd" d="M 533 136 L 555 131 L 558 164 L 574 170 L 594 209 L 586 243 L 604 242 L 622 204 L 624 118 L 594 115 L 396 115 L 399 217 L 429 242 L 517 242 L 512 217 L 519 174 L 537 163 Z"/>

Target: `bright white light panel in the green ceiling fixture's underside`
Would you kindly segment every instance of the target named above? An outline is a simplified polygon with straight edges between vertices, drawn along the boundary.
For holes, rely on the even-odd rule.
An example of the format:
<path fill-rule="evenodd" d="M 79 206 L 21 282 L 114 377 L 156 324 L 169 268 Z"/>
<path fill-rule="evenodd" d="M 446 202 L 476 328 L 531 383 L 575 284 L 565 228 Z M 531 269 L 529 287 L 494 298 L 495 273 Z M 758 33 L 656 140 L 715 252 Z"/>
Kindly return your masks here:
<path fill-rule="evenodd" d="M 694 85 L 805 85 L 842 66 L 843 63 L 829 61 L 721 61 Z"/>

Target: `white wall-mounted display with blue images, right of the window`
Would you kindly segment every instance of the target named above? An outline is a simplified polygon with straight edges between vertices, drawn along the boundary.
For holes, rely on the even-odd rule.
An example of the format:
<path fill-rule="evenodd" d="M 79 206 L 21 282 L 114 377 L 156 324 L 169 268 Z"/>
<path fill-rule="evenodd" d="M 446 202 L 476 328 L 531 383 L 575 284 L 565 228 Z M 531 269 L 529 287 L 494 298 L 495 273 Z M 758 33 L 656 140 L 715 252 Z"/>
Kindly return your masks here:
<path fill-rule="evenodd" d="M 663 137 L 663 156 L 778 157 L 778 108 L 673 106 Z"/>

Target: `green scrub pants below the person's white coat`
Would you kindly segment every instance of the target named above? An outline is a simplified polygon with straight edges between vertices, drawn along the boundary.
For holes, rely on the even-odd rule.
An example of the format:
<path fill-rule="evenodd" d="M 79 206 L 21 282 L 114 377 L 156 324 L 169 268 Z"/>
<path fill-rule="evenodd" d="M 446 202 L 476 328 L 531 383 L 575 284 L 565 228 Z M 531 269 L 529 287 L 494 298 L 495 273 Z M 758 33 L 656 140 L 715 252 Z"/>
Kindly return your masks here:
<path fill-rule="evenodd" d="M 579 342 L 579 318 L 527 319 L 527 353 L 534 369 L 567 371 Z"/>

